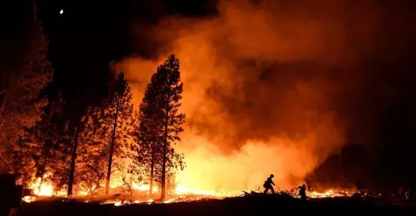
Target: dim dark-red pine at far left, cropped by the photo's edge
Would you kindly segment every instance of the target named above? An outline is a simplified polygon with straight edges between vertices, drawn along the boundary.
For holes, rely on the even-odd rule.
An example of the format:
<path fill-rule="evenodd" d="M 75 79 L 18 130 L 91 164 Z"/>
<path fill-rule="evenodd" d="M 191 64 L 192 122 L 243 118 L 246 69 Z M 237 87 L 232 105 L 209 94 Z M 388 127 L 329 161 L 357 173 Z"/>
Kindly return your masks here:
<path fill-rule="evenodd" d="M 52 79 L 53 70 L 46 57 L 47 38 L 36 11 L 34 15 L 34 21 L 23 23 L 25 36 L 21 40 L 14 45 L 3 40 L 6 43 L 0 46 L 0 154 L 19 149 L 25 128 L 40 120 L 46 101 L 39 96 Z M 12 154 L 6 156 L 10 159 Z M 21 164 L 21 159 L 15 157 L 14 164 Z"/>

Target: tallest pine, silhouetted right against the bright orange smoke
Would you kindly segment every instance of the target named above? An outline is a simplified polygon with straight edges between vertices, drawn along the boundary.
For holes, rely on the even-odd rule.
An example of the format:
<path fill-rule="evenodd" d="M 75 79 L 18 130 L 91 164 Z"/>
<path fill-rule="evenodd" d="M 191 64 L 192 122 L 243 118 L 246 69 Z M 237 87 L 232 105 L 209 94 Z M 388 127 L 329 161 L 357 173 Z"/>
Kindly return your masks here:
<path fill-rule="evenodd" d="M 183 86 L 179 60 L 171 55 L 152 75 L 140 107 L 140 144 L 145 148 L 142 152 L 151 152 L 145 158 L 153 155 L 159 159 L 162 200 L 166 196 L 166 176 L 184 169 L 182 154 L 177 154 L 173 148 L 175 142 L 180 141 L 179 133 L 184 130 L 185 115 L 178 112 Z"/>

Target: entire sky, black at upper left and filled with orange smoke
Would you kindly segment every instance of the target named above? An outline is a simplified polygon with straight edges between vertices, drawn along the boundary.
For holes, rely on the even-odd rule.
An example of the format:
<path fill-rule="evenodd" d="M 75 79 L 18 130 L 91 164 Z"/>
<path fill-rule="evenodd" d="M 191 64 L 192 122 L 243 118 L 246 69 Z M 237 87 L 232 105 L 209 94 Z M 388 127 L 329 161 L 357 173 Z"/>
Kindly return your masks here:
<path fill-rule="evenodd" d="M 272 172 L 289 187 L 353 144 L 395 158 L 376 167 L 396 176 L 410 161 L 396 147 L 415 119 L 413 1 L 54 2 L 39 11 L 57 86 L 101 89 L 114 60 L 138 104 L 177 55 L 190 187 L 254 189 Z"/>

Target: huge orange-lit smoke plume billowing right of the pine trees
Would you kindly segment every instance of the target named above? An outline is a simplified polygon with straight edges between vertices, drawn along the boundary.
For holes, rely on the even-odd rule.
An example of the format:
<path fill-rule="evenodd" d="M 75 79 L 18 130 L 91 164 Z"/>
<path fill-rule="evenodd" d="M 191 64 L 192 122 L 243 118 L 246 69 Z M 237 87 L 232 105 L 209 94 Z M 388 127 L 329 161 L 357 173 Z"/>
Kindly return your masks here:
<path fill-rule="evenodd" d="M 179 183 L 257 189 L 274 173 L 287 189 L 342 147 L 349 122 L 337 99 L 362 86 L 358 59 L 371 53 L 379 24 L 377 8 L 359 4 L 221 1 L 217 16 L 171 16 L 146 29 L 162 45 L 157 58 L 129 56 L 115 67 L 138 106 L 157 65 L 179 58 L 187 116 Z"/>

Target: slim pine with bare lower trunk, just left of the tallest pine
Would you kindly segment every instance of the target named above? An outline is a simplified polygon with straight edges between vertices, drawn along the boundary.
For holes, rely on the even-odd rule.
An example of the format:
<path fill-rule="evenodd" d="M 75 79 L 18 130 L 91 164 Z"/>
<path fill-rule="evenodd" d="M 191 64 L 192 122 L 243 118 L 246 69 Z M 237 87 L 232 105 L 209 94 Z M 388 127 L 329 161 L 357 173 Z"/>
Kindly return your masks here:
<path fill-rule="evenodd" d="M 133 119 L 133 97 L 131 88 L 120 73 L 116 82 L 110 88 L 109 98 L 103 102 L 100 113 L 101 136 L 105 143 L 107 155 L 107 179 L 105 184 L 105 195 L 109 195 L 112 167 L 115 156 L 127 158 L 129 142 L 131 141 L 131 130 Z M 107 148 L 108 147 L 108 148 Z"/>

